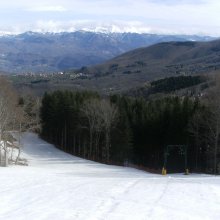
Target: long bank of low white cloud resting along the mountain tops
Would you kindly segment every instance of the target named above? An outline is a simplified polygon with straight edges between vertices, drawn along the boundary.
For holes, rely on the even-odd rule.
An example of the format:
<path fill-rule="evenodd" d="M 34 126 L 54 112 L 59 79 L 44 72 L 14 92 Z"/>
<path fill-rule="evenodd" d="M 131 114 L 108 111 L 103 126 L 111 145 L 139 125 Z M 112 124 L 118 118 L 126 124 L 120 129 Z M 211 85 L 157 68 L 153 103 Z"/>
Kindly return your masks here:
<path fill-rule="evenodd" d="M 220 31 L 212 32 L 212 27 L 207 28 L 204 31 L 201 31 L 197 27 L 170 27 L 169 25 L 155 26 L 146 24 L 140 21 L 109 21 L 109 22 L 97 22 L 95 20 L 72 20 L 68 22 L 63 21 L 43 21 L 39 20 L 31 25 L 22 25 L 6 28 L 0 33 L 22 33 L 25 31 L 34 31 L 34 32 L 74 32 L 74 31 L 91 31 L 91 32 L 130 32 L 130 33 L 151 33 L 151 34 L 199 34 L 199 35 L 213 35 L 219 36 Z"/>

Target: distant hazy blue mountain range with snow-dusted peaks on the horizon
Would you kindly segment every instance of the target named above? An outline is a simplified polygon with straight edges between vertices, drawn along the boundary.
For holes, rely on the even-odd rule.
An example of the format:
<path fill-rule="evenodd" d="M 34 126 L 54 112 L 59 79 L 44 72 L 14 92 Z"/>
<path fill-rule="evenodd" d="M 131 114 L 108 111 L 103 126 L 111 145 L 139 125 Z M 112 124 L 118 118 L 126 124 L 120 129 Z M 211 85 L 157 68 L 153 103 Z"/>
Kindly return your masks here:
<path fill-rule="evenodd" d="M 0 70 L 53 72 L 102 63 L 127 51 L 170 41 L 209 41 L 212 37 L 138 33 L 35 33 L 0 37 Z"/>

